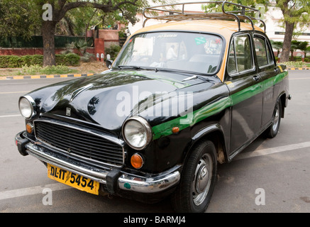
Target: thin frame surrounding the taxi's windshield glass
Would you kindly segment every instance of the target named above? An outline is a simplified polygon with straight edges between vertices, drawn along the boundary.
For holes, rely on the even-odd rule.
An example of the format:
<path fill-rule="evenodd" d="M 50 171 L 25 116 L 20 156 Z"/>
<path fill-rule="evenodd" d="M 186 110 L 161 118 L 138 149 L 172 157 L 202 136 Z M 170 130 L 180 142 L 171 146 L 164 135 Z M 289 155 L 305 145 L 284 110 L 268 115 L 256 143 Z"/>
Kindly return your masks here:
<path fill-rule="evenodd" d="M 194 71 L 189 71 L 189 70 L 177 70 L 177 69 L 170 69 L 167 67 L 145 67 L 145 66 L 139 66 L 139 65 L 116 65 L 116 63 L 120 60 L 121 55 L 123 55 L 124 50 L 126 50 L 127 46 L 131 43 L 129 42 L 129 40 L 133 40 L 133 38 L 135 38 L 138 35 L 143 35 L 143 34 L 148 34 L 148 33 L 196 33 L 196 34 L 202 34 L 202 35 L 215 35 L 218 36 L 218 38 L 221 38 L 221 40 L 223 41 L 223 45 L 222 45 L 222 50 L 221 53 L 219 55 L 220 59 L 218 61 L 218 67 L 216 68 L 215 72 L 211 72 L 211 73 L 202 73 L 202 72 L 194 72 Z M 157 31 L 146 31 L 146 32 L 140 32 L 140 33 L 135 33 L 133 35 L 131 35 L 128 40 L 126 41 L 125 45 L 123 45 L 123 48 L 121 48 L 121 52 L 118 53 L 116 59 L 114 60 L 111 69 L 112 70 L 122 70 L 121 67 L 136 67 L 137 70 L 155 70 L 157 71 L 170 71 L 170 72 L 182 72 L 185 74 L 196 74 L 196 75 L 202 75 L 202 76 L 214 76 L 216 74 L 218 74 L 218 72 L 221 70 L 222 64 L 223 64 L 223 57 L 225 54 L 225 50 L 226 50 L 226 39 L 223 37 L 223 35 L 220 35 L 218 33 L 211 33 L 211 32 L 201 32 L 201 31 L 179 31 L 179 30 L 157 30 Z M 121 67 L 119 67 L 121 66 Z M 140 69 L 138 69 L 140 68 Z"/>

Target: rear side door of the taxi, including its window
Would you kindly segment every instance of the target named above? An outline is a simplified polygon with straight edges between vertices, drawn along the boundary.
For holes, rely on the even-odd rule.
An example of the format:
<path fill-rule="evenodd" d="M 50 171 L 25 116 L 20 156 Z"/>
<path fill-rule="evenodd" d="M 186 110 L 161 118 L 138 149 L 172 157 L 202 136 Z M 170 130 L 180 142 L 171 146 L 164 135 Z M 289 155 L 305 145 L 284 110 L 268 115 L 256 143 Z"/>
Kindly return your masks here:
<path fill-rule="evenodd" d="M 262 127 L 270 123 L 275 103 L 277 100 L 277 89 L 275 87 L 275 76 L 278 73 L 275 58 L 272 53 L 270 42 L 265 35 L 255 33 L 253 35 L 255 57 L 258 65 L 258 73 L 262 79 Z"/>

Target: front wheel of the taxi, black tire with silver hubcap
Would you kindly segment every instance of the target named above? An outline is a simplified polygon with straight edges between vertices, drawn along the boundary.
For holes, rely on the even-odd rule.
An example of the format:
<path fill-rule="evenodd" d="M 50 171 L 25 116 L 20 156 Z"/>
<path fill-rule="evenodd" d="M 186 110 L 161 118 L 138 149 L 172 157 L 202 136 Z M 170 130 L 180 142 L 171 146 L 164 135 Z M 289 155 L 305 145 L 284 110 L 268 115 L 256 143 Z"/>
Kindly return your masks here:
<path fill-rule="evenodd" d="M 206 211 L 217 179 L 216 148 L 202 141 L 192 150 L 184 164 L 179 185 L 172 194 L 172 206 L 179 213 Z"/>

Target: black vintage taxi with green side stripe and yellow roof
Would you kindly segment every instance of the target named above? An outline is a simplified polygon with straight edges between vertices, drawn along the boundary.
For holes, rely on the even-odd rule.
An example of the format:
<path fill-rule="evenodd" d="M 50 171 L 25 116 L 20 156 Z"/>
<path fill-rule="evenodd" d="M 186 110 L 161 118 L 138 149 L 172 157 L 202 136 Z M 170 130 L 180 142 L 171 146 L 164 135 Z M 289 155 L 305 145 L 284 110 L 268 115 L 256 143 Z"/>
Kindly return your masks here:
<path fill-rule="evenodd" d="M 110 70 L 21 96 L 19 153 L 86 192 L 206 211 L 218 163 L 277 135 L 288 72 L 250 17 L 183 14 L 131 35 Z"/>

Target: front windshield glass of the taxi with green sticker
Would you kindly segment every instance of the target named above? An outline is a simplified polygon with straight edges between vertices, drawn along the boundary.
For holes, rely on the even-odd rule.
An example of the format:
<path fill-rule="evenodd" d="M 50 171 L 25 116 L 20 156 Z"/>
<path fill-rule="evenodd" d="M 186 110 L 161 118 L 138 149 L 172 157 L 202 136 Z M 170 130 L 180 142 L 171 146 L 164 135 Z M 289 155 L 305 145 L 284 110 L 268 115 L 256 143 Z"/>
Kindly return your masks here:
<path fill-rule="evenodd" d="M 113 67 L 148 67 L 214 74 L 221 65 L 223 39 L 217 35 L 182 32 L 133 36 Z"/>

